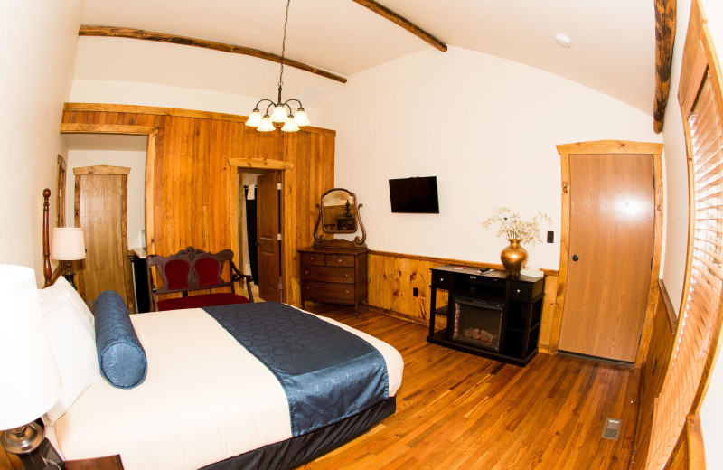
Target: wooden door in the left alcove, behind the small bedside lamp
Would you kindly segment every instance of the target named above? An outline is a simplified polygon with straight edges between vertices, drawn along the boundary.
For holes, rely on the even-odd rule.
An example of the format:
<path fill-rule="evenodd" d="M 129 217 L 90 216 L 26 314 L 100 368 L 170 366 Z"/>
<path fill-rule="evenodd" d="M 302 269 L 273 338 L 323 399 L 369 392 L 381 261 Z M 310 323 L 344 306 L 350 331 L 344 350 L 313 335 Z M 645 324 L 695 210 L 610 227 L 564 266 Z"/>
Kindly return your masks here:
<path fill-rule="evenodd" d="M 74 168 L 75 226 L 82 227 L 86 258 L 78 269 L 79 291 L 89 307 L 114 290 L 135 311 L 127 240 L 127 187 L 130 168 Z"/>

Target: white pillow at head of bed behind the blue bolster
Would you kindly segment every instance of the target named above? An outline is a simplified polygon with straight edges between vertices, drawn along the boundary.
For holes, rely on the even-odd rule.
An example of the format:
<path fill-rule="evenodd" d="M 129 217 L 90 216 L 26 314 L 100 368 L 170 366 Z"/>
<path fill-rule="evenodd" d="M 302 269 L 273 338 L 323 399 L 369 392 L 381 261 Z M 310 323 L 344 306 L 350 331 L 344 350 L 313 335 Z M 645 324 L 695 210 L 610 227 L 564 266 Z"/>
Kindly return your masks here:
<path fill-rule="evenodd" d="M 54 286 L 39 289 L 38 298 L 42 322 L 62 378 L 61 397 L 44 417 L 46 424 L 52 425 L 99 379 L 100 371 L 95 332 L 88 315 L 79 308 L 78 300 L 85 304 L 75 289 L 61 277 Z"/>

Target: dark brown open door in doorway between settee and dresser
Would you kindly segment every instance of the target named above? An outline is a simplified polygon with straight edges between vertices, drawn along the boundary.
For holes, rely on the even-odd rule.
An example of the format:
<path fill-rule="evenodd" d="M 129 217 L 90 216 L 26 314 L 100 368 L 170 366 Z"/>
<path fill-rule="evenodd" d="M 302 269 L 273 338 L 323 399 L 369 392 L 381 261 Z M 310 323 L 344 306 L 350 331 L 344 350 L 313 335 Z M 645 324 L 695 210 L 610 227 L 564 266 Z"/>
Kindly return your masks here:
<path fill-rule="evenodd" d="M 258 177 L 256 187 L 256 227 L 258 243 L 258 296 L 269 302 L 281 301 L 279 288 L 280 253 L 279 172 Z"/>

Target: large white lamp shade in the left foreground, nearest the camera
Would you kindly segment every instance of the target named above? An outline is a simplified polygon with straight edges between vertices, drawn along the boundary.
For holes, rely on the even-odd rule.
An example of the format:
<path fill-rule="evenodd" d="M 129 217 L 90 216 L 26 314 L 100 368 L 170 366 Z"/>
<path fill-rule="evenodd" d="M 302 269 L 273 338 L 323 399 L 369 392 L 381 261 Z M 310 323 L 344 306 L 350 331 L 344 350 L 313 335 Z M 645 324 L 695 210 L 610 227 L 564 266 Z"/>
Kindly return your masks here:
<path fill-rule="evenodd" d="M 31 268 L 0 265 L 0 357 L 0 430 L 18 428 L 61 396 Z"/>

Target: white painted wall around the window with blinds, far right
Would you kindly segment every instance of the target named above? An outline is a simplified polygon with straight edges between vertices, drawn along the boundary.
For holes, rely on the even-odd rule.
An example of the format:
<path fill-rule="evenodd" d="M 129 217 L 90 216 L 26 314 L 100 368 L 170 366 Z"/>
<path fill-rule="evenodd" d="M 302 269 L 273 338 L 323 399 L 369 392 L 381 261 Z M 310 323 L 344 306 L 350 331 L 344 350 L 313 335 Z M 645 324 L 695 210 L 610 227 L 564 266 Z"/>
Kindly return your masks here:
<path fill-rule="evenodd" d="M 718 0 L 703 0 L 702 6 L 709 19 L 713 42 L 723 47 L 723 4 Z M 683 277 L 688 243 L 688 170 L 686 165 L 683 118 L 678 103 L 681 59 L 690 16 L 690 0 L 678 0 L 678 25 L 673 49 L 671 93 L 663 121 L 665 144 L 665 264 L 662 278 L 676 310 L 680 309 Z M 720 345 L 718 345 L 720 348 Z M 713 370 L 709 389 L 700 409 L 707 468 L 723 468 L 723 361 Z"/>

